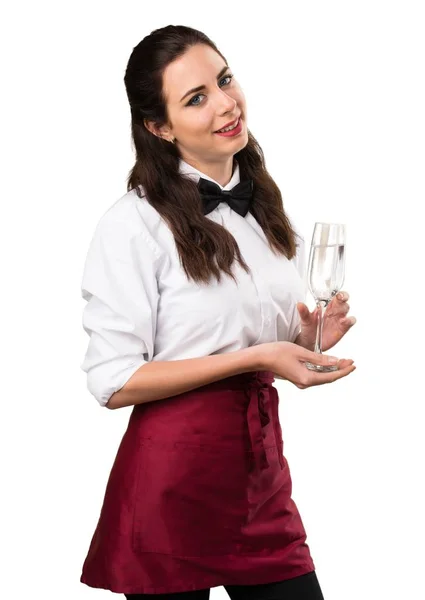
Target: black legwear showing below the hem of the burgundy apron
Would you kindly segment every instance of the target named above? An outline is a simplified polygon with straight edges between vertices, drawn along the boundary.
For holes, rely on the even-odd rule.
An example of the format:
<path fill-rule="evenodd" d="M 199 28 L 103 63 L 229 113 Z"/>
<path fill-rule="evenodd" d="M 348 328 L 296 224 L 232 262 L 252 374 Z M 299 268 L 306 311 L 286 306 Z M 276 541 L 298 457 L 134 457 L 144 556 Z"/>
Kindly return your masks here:
<path fill-rule="evenodd" d="M 316 572 L 259 585 L 225 585 L 230 600 L 324 600 Z M 210 588 L 174 594 L 124 594 L 129 600 L 208 600 Z"/>

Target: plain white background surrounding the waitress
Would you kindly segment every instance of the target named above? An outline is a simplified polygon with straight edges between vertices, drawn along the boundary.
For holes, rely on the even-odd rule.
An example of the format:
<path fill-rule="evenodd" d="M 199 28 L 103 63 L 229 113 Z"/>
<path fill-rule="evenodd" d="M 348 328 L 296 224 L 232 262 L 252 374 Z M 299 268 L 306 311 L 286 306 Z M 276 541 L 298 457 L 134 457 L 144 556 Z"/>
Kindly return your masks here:
<path fill-rule="evenodd" d="M 332 353 L 357 370 L 303 391 L 276 382 L 324 596 L 425 598 L 424 10 L 407 0 L 3 9 L 2 597 L 110 597 L 79 577 L 131 409 L 101 409 L 86 389 L 79 286 L 95 225 L 133 163 L 131 50 L 185 24 L 227 57 L 307 244 L 316 220 L 348 228 L 344 289 L 358 321 Z"/>

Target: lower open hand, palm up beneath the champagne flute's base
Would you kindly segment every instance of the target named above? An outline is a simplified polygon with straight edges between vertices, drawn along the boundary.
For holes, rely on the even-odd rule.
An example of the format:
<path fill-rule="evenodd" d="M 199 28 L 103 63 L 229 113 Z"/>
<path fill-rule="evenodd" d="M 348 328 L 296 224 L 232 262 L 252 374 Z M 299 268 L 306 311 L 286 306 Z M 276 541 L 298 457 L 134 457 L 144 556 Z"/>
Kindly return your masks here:
<path fill-rule="evenodd" d="M 334 357 L 318 354 L 291 342 L 268 342 L 263 346 L 263 365 L 278 379 L 287 379 L 300 389 L 313 385 L 331 383 L 355 371 L 351 359 L 336 359 L 337 371 L 318 373 L 305 366 L 306 361 L 317 365 L 329 365 Z"/>

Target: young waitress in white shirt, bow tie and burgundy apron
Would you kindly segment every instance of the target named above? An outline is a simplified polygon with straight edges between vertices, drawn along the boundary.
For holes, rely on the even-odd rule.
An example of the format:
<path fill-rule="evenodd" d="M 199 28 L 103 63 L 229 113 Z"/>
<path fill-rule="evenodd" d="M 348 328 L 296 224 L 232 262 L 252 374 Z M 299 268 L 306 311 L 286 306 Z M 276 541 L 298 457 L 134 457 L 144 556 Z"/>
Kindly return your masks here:
<path fill-rule="evenodd" d="M 133 406 L 81 581 L 127 598 L 323 598 L 291 498 L 275 377 L 310 371 L 315 313 L 243 92 L 203 33 L 152 32 L 125 85 L 136 164 L 83 275 L 82 364 L 100 405 Z M 267 110 L 264 118 L 277 118 Z M 332 300 L 323 349 L 352 325 Z M 298 303 L 298 304 L 297 304 Z"/>

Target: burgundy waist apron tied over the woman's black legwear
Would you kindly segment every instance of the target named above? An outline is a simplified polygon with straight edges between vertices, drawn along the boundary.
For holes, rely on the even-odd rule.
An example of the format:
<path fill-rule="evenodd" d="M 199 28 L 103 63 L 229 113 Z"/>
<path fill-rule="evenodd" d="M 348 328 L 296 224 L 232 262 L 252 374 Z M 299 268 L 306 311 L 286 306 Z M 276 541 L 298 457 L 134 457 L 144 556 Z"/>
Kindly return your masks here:
<path fill-rule="evenodd" d="M 243 373 L 134 406 L 82 583 L 165 594 L 315 570 L 273 381 Z"/>

